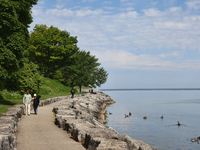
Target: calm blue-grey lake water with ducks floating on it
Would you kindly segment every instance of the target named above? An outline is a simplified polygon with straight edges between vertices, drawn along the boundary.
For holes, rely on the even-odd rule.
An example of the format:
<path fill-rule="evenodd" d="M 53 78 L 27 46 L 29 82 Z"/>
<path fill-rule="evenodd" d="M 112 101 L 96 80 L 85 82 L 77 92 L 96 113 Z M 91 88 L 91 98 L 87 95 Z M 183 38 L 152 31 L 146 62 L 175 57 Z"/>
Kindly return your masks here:
<path fill-rule="evenodd" d="M 200 136 L 200 90 L 101 91 L 116 101 L 107 107 L 107 125 L 119 133 L 160 150 L 200 150 L 191 142 Z"/>

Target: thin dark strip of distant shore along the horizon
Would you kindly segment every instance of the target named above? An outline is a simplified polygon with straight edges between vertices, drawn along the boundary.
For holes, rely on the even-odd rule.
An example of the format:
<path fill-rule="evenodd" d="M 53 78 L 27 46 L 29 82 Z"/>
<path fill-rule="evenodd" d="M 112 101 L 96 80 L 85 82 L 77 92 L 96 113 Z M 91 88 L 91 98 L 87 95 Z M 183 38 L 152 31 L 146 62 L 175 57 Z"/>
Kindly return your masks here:
<path fill-rule="evenodd" d="M 191 91 L 200 88 L 135 88 L 135 89 L 99 89 L 100 91 Z"/>

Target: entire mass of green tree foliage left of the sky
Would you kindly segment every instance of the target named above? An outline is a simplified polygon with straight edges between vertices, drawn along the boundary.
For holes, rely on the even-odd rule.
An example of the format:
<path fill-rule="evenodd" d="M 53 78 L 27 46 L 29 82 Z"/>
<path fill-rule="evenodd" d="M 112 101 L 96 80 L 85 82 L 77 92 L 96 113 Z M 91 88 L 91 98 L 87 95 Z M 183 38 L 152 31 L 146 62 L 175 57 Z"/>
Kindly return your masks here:
<path fill-rule="evenodd" d="M 80 89 L 105 83 L 108 73 L 98 58 L 79 50 L 76 36 L 42 24 L 28 32 L 37 1 L 0 0 L 0 90 L 39 92 L 42 76 Z"/>

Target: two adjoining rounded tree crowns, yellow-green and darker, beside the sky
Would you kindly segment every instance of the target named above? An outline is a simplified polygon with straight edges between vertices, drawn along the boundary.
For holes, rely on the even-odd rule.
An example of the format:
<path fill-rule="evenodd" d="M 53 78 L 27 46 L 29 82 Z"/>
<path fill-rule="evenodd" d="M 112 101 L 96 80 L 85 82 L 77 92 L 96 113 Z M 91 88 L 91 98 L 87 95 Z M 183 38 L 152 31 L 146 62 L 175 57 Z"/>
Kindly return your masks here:
<path fill-rule="evenodd" d="M 77 37 L 67 31 L 36 25 L 30 33 L 29 60 L 44 76 L 67 86 L 96 87 L 105 83 L 108 73 L 90 52 L 80 51 Z"/>

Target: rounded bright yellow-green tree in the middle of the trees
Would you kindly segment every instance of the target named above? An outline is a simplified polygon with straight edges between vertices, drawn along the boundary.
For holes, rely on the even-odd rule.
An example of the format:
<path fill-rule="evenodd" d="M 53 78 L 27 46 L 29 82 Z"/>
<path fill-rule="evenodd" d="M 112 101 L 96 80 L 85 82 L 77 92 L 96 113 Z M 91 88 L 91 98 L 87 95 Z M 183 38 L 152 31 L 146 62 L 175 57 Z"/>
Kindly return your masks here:
<path fill-rule="evenodd" d="M 36 25 L 30 34 L 29 58 L 40 66 L 44 76 L 53 77 L 56 70 L 73 62 L 78 51 L 77 42 L 77 37 L 70 36 L 67 31 Z"/>

